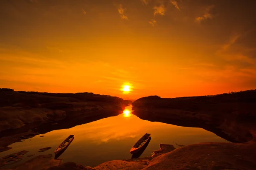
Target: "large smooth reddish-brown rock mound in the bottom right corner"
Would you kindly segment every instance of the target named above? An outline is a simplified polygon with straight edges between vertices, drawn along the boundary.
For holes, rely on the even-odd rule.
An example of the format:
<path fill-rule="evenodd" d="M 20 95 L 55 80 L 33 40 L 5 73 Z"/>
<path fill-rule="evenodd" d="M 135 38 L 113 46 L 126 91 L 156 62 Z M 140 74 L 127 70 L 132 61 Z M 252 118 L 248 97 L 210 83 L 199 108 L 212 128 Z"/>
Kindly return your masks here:
<path fill-rule="evenodd" d="M 200 143 L 152 159 L 143 170 L 255 170 L 255 143 Z"/>

